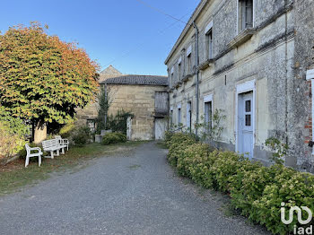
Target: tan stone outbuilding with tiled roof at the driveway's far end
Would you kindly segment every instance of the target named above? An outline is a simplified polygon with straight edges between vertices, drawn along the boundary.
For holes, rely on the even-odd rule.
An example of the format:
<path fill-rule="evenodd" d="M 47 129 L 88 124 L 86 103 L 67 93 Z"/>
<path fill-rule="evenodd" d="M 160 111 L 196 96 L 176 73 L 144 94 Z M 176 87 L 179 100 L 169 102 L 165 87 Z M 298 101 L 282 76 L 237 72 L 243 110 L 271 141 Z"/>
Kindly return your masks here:
<path fill-rule="evenodd" d="M 128 124 L 131 140 L 163 139 L 168 126 L 168 78 L 155 75 L 121 74 L 111 65 L 100 74 L 100 86 L 107 86 L 109 115 L 131 112 Z M 78 111 L 79 122 L 95 127 L 98 103 Z"/>

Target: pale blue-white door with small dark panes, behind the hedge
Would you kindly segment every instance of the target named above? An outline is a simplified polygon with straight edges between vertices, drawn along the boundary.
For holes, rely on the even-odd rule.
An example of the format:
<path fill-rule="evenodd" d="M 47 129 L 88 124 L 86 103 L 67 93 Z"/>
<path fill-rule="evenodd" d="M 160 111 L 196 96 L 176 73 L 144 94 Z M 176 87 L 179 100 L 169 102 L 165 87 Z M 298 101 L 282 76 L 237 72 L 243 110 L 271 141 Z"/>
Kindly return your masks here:
<path fill-rule="evenodd" d="M 253 157 L 253 91 L 239 94 L 238 102 L 238 150 L 249 159 Z"/>

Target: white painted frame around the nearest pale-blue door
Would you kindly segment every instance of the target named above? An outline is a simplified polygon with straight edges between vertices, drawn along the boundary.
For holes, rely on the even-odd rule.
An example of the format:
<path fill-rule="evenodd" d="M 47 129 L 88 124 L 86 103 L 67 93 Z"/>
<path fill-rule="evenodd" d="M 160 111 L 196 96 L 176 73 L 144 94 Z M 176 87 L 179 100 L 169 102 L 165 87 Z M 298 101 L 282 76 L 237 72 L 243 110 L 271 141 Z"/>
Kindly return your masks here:
<path fill-rule="evenodd" d="M 235 100 L 236 100 L 236 106 L 235 106 L 235 116 L 234 116 L 234 125 L 235 125 L 235 150 L 236 152 L 239 151 L 239 130 L 238 130 L 238 101 L 239 101 L 239 95 L 241 93 L 245 93 L 245 92 L 249 92 L 249 91 L 253 91 L 253 112 L 252 112 L 252 119 L 253 119 L 253 154 L 252 154 L 252 158 L 254 158 L 254 145 L 255 145 L 255 134 L 256 134 L 256 130 L 255 130 L 255 123 L 256 123 L 256 80 L 251 80 L 247 83 L 241 83 L 239 85 L 236 86 L 236 93 L 235 93 Z"/>

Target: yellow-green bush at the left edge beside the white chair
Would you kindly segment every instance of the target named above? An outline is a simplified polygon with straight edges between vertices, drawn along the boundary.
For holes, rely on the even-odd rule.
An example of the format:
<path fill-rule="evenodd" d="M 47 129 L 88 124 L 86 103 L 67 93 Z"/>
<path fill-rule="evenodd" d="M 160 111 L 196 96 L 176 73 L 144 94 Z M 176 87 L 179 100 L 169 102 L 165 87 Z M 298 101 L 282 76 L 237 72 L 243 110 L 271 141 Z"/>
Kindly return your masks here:
<path fill-rule="evenodd" d="M 20 118 L 11 117 L 0 107 L 0 158 L 11 157 L 21 151 L 29 132 Z"/>

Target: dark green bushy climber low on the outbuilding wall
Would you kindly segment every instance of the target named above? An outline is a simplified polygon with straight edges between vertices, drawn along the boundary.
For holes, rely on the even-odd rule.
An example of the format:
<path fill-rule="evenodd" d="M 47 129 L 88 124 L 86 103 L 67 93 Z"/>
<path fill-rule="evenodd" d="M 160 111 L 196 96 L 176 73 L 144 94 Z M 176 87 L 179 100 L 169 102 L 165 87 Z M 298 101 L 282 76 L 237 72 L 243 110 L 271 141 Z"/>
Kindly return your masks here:
<path fill-rule="evenodd" d="M 118 110 L 116 116 L 109 116 L 108 118 L 108 129 L 113 132 L 120 132 L 126 134 L 126 123 L 128 117 L 134 117 L 131 112 L 126 112 L 125 110 Z"/>

